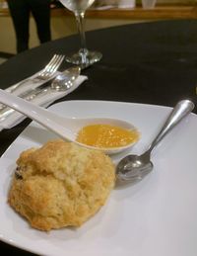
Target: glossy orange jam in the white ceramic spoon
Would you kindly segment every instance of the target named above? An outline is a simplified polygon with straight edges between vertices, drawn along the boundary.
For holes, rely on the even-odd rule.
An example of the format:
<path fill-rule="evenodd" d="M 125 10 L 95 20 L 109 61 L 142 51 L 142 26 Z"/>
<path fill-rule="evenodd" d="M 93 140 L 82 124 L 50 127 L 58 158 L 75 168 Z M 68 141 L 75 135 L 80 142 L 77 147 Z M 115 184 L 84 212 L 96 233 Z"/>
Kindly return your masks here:
<path fill-rule="evenodd" d="M 138 139 L 139 132 L 136 129 L 90 125 L 80 129 L 76 140 L 86 145 L 107 148 L 126 146 Z"/>

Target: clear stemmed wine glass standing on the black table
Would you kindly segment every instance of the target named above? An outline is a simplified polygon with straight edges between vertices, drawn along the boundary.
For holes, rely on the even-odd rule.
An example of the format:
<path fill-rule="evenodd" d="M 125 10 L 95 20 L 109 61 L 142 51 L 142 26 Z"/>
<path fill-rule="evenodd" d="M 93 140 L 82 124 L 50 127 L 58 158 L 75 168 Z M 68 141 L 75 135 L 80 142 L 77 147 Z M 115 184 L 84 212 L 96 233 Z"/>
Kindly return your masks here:
<path fill-rule="evenodd" d="M 99 51 L 90 51 L 86 46 L 86 37 L 84 30 L 84 17 L 86 10 L 95 2 L 95 0 L 59 0 L 67 9 L 75 14 L 78 31 L 81 38 L 81 48 L 78 52 L 67 56 L 66 60 L 73 64 L 89 66 L 99 61 L 102 54 Z"/>

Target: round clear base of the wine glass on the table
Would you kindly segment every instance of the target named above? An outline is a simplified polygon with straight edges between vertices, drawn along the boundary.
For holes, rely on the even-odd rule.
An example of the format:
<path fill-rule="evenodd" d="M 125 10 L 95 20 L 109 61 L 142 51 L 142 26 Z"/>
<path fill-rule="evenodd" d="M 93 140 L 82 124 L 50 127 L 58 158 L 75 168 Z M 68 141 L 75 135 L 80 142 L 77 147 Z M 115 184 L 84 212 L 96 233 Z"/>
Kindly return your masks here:
<path fill-rule="evenodd" d="M 99 51 L 88 51 L 82 54 L 80 51 L 66 57 L 66 61 L 80 66 L 89 66 L 100 60 L 102 54 Z"/>

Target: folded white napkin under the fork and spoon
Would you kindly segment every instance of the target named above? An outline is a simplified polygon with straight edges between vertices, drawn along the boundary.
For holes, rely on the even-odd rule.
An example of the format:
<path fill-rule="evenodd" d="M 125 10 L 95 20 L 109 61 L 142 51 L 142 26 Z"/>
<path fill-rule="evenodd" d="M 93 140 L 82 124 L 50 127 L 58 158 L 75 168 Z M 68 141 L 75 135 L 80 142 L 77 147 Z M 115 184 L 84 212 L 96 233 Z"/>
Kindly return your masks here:
<path fill-rule="evenodd" d="M 74 90 L 76 90 L 85 80 L 87 80 L 88 77 L 84 76 L 84 75 L 80 75 L 74 82 L 73 82 L 73 86 L 66 90 L 66 91 L 52 91 L 51 93 L 47 93 L 45 95 L 40 95 L 37 96 L 33 99 L 33 101 L 31 101 L 33 104 L 41 106 L 41 107 L 48 107 L 52 102 L 68 95 L 69 93 L 73 92 Z M 43 83 L 43 82 L 42 82 Z M 33 89 L 35 87 L 37 87 L 37 85 L 34 87 L 32 86 L 33 84 L 29 83 L 30 86 L 26 87 L 27 89 Z M 38 84 L 38 86 L 40 85 L 40 83 Z M 10 87 L 12 88 L 12 86 Z M 9 92 L 9 89 L 6 89 L 6 91 Z M 17 92 L 17 91 L 16 91 Z M 23 91 L 21 90 L 20 93 L 22 93 Z M 13 94 L 16 94 L 15 92 L 13 92 Z M 18 95 L 18 92 L 17 92 Z M 23 120 L 26 119 L 26 116 L 22 115 L 21 113 L 18 113 L 16 111 L 14 111 L 11 115 L 9 115 L 8 117 L 6 117 L 5 119 L 0 119 L 0 131 L 4 128 L 13 128 L 15 126 L 17 126 L 18 124 L 20 124 Z"/>

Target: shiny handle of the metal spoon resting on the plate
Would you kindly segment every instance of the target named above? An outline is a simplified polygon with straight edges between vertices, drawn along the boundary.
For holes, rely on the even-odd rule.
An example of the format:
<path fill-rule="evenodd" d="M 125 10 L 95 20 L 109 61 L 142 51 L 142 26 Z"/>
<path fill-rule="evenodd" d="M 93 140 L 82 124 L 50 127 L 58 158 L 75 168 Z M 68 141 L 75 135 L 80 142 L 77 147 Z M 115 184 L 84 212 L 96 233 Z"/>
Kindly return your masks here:
<path fill-rule="evenodd" d="M 194 109 L 193 102 L 189 100 L 182 100 L 176 104 L 167 120 L 164 123 L 164 127 L 160 130 L 154 141 L 149 147 L 149 153 L 153 148 L 164 138 L 164 136 L 174 128 L 185 116 L 187 116 Z"/>

